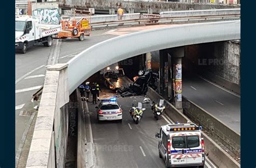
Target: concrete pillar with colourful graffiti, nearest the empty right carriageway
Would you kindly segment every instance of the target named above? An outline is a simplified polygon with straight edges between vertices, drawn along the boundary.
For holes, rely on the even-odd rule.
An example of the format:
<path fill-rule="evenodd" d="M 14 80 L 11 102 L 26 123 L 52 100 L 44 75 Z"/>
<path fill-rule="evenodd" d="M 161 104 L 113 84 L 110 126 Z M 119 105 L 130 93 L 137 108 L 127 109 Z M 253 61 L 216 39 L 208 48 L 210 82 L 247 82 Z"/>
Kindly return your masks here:
<path fill-rule="evenodd" d="M 185 47 L 170 48 L 169 54 L 173 60 L 173 88 L 174 106 L 182 110 L 182 58 L 184 57 Z"/>

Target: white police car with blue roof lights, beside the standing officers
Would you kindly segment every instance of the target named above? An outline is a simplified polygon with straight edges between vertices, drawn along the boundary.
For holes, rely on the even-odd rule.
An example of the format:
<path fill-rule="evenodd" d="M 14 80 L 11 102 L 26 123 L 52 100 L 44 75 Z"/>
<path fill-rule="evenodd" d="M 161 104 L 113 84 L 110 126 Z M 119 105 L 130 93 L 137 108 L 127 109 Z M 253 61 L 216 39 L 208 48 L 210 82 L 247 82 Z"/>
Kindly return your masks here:
<path fill-rule="evenodd" d="M 117 104 L 116 97 L 101 100 L 99 106 L 95 108 L 98 121 L 118 120 L 122 122 L 122 109 Z"/>

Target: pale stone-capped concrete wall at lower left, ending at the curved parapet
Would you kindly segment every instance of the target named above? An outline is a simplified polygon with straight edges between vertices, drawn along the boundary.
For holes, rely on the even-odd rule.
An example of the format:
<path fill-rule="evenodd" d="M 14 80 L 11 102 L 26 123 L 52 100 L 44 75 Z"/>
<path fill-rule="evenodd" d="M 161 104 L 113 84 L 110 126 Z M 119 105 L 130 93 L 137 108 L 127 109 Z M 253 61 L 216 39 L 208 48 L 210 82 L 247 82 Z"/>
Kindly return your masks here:
<path fill-rule="evenodd" d="M 67 64 L 48 67 L 26 167 L 65 167 L 68 102 Z"/>

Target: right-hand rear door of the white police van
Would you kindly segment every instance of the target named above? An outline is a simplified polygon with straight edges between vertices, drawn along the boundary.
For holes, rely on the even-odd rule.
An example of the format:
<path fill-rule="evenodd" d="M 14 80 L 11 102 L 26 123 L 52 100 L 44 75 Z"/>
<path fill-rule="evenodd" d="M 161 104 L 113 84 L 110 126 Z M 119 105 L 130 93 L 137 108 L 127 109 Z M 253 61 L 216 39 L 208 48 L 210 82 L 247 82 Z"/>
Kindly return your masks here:
<path fill-rule="evenodd" d="M 201 138 L 199 135 L 186 135 L 186 148 L 186 158 L 188 164 L 203 162 Z"/>

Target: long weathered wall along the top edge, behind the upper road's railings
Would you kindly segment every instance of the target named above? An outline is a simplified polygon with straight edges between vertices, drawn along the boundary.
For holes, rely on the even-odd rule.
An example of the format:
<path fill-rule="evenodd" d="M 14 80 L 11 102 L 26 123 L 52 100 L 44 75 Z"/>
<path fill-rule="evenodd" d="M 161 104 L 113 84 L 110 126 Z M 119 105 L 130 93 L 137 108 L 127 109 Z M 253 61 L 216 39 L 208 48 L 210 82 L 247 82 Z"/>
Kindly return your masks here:
<path fill-rule="evenodd" d="M 240 8 L 238 5 L 224 5 L 224 4 L 199 4 L 199 3 L 177 3 L 177 2 L 127 2 L 118 0 L 59 0 L 60 7 L 77 8 L 77 9 L 89 9 L 95 8 L 95 10 L 105 10 L 107 13 L 109 9 L 115 9 L 117 11 L 118 5 L 127 13 L 130 8 L 134 9 L 134 12 L 145 12 L 147 9 L 152 8 L 153 13 L 159 13 L 172 9 L 177 10 L 202 10 L 202 9 L 227 9 L 227 8 Z"/>

